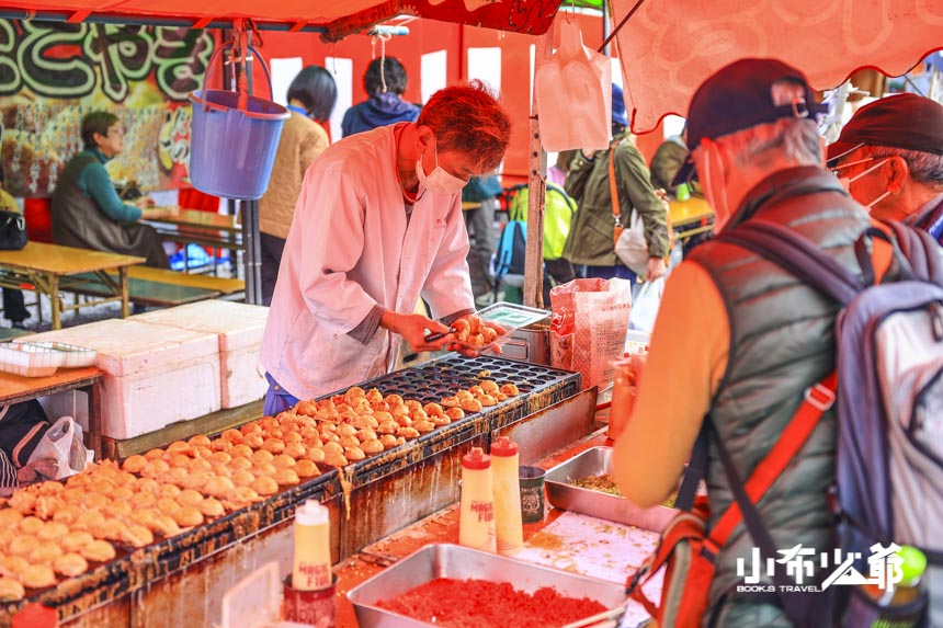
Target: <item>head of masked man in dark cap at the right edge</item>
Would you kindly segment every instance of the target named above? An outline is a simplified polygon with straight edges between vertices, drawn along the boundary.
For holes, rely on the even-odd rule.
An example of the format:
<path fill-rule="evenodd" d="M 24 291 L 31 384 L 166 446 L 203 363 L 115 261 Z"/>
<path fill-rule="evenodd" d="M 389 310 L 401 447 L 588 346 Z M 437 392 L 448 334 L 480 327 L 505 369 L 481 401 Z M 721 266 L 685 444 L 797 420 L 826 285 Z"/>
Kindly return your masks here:
<path fill-rule="evenodd" d="M 899 220 L 943 243 L 943 105 L 917 94 L 855 112 L 828 147 L 828 164 L 878 220 Z"/>

